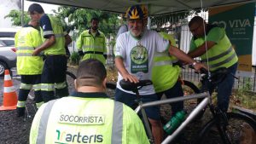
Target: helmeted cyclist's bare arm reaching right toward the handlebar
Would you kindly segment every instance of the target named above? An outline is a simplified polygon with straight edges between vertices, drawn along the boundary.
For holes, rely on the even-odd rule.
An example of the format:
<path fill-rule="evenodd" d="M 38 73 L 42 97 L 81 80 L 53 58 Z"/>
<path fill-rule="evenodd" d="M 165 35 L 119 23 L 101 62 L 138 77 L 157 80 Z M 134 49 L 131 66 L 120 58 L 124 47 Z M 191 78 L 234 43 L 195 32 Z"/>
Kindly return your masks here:
<path fill-rule="evenodd" d="M 197 63 L 195 60 L 193 60 L 191 57 L 189 57 L 189 55 L 186 55 L 182 50 L 177 49 L 174 46 L 170 46 L 170 48 L 168 49 L 170 55 L 174 55 L 175 57 L 177 57 L 177 59 L 179 60 L 183 60 L 189 64 L 193 64 L 193 66 L 195 67 L 195 71 L 200 71 L 200 69 L 202 67 L 206 68 L 206 66 L 204 66 L 201 63 Z"/>

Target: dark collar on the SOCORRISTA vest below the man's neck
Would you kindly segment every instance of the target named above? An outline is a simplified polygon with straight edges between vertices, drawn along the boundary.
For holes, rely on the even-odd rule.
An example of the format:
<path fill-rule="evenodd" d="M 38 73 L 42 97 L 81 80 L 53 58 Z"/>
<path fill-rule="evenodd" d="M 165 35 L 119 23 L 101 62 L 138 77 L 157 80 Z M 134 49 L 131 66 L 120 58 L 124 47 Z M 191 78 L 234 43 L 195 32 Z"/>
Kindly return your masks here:
<path fill-rule="evenodd" d="M 83 93 L 83 92 L 75 91 L 71 96 L 84 97 L 84 98 L 109 98 L 109 96 L 106 93 L 102 93 L 102 92 Z"/>

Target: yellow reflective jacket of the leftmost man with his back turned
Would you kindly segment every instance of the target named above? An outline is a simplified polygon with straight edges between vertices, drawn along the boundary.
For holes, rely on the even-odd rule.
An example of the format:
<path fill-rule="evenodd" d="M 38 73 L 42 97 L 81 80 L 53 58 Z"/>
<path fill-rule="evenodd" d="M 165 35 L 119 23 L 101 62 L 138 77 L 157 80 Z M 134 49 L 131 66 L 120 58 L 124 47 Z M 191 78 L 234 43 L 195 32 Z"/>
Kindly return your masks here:
<path fill-rule="evenodd" d="M 17 72 L 20 75 L 36 75 L 43 71 L 41 56 L 32 56 L 32 52 L 42 44 L 40 32 L 33 27 L 23 27 L 15 34 L 17 49 Z"/>

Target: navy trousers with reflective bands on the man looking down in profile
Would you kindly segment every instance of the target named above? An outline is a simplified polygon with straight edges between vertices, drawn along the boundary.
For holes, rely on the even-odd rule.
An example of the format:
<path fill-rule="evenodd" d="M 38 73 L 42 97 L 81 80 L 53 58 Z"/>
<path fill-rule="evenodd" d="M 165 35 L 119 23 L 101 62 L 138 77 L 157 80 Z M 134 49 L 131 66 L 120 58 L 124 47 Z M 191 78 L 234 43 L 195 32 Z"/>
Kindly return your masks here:
<path fill-rule="evenodd" d="M 42 73 L 42 96 L 44 102 L 68 95 L 66 83 L 67 57 L 65 55 L 48 55 L 44 60 Z M 65 84 L 65 86 L 58 86 Z M 49 86 L 49 87 L 48 87 Z M 53 87 L 52 87 L 53 86 Z"/>

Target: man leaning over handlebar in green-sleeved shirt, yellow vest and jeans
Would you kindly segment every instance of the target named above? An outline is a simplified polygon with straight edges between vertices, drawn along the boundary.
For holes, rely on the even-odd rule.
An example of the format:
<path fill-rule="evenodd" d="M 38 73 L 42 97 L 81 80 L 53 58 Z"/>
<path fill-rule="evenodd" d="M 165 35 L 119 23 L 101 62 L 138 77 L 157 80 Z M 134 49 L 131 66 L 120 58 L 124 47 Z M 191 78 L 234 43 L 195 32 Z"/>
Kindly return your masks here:
<path fill-rule="evenodd" d="M 212 72 L 226 67 L 230 73 L 236 74 L 238 58 L 224 28 L 207 24 L 200 16 L 195 16 L 189 21 L 189 31 L 193 34 L 189 56 L 200 56 Z M 234 82 L 234 77 L 228 74 L 218 85 L 208 84 L 210 93 L 215 87 L 218 88 L 218 108 L 223 112 L 228 110 Z"/>

